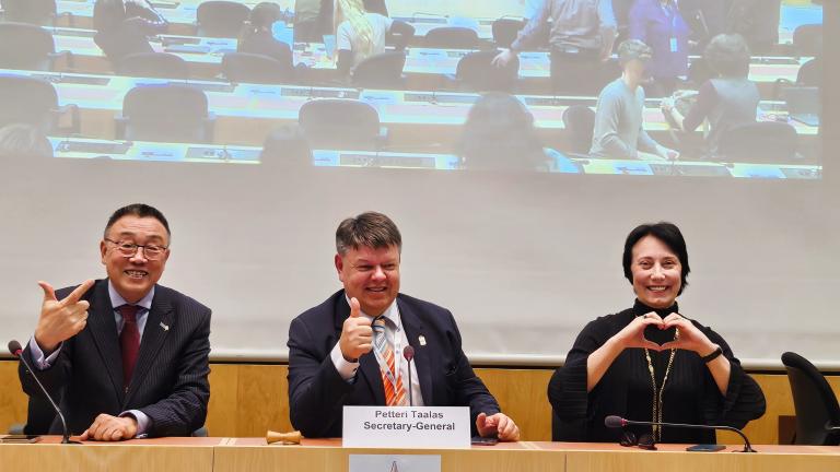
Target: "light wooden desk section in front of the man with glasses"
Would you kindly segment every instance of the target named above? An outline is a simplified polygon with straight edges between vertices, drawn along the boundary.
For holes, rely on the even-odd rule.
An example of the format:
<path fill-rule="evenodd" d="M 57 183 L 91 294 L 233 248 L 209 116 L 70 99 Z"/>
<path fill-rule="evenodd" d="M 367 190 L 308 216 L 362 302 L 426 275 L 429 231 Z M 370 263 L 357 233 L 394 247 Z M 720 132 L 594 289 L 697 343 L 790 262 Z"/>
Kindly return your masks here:
<path fill-rule="evenodd" d="M 0 470 L 61 472 L 211 472 L 213 447 L 224 438 L 135 439 L 62 445 L 57 436 L 39 444 L 0 445 Z"/>

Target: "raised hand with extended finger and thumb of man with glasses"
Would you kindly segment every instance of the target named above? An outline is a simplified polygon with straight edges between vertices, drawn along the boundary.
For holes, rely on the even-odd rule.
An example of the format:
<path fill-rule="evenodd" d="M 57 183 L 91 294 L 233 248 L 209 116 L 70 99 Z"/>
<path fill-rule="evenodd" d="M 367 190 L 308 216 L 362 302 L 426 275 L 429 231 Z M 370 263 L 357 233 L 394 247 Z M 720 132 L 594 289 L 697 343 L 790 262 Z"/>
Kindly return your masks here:
<path fill-rule="evenodd" d="M 49 354 L 88 324 L 91 304 L 81 298 L 93 286 L 93 281 L 85 281 L 61 302 L 56 298 L 56 291 L 50 284 L 38 282 L 38 285 L 44 290 L 44 303 L 35 328 L 35 342 L 45 354 Z"/>

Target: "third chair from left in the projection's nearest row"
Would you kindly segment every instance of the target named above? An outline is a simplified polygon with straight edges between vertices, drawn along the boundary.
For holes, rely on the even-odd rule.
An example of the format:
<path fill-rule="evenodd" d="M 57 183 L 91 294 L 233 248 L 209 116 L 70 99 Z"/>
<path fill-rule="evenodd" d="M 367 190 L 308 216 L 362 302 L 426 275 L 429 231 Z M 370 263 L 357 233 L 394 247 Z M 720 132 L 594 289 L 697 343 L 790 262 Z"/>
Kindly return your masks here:
<path fill-rule="evenodd" d="M 343 98 L 306 102 L 298 113 L 313 149 L 380 151 L 387 142 L 387 130 L 371 105 Z"/>

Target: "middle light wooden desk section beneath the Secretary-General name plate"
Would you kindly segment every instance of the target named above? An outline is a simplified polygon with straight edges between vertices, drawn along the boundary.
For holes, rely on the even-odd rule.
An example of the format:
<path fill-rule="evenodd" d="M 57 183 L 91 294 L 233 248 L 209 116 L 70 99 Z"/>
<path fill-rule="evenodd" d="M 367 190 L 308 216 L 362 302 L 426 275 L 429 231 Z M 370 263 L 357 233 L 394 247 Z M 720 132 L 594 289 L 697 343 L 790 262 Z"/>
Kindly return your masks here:
<path fill-rule="evenodd" d="M 301 446 L 267 446 L 264 439 L 232 439 L 215 448 L 215 472 L 347 471 L 350 455 L 435 455 L 444 472 L 562 472 L 563 452 L 534 442 L 476 446 L 472 449 L 345 449 L 341 439 L 304 439 Z"/>

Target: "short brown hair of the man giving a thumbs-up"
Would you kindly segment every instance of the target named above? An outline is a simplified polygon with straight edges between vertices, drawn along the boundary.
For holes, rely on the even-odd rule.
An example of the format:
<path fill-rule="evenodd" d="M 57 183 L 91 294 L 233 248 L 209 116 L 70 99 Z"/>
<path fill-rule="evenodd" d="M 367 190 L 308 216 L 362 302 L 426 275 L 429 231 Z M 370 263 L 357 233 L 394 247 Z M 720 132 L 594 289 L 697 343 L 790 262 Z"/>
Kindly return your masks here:
<path fill-rule="evenodd" d="M 336 251 L 343 256 L 350 248 L 372 247 L 374 249 L 396 246 L 402 249 L 402 236 L 397 225 L 386 215 L 364 212 L 342 221 L 336 229 Z"/>

